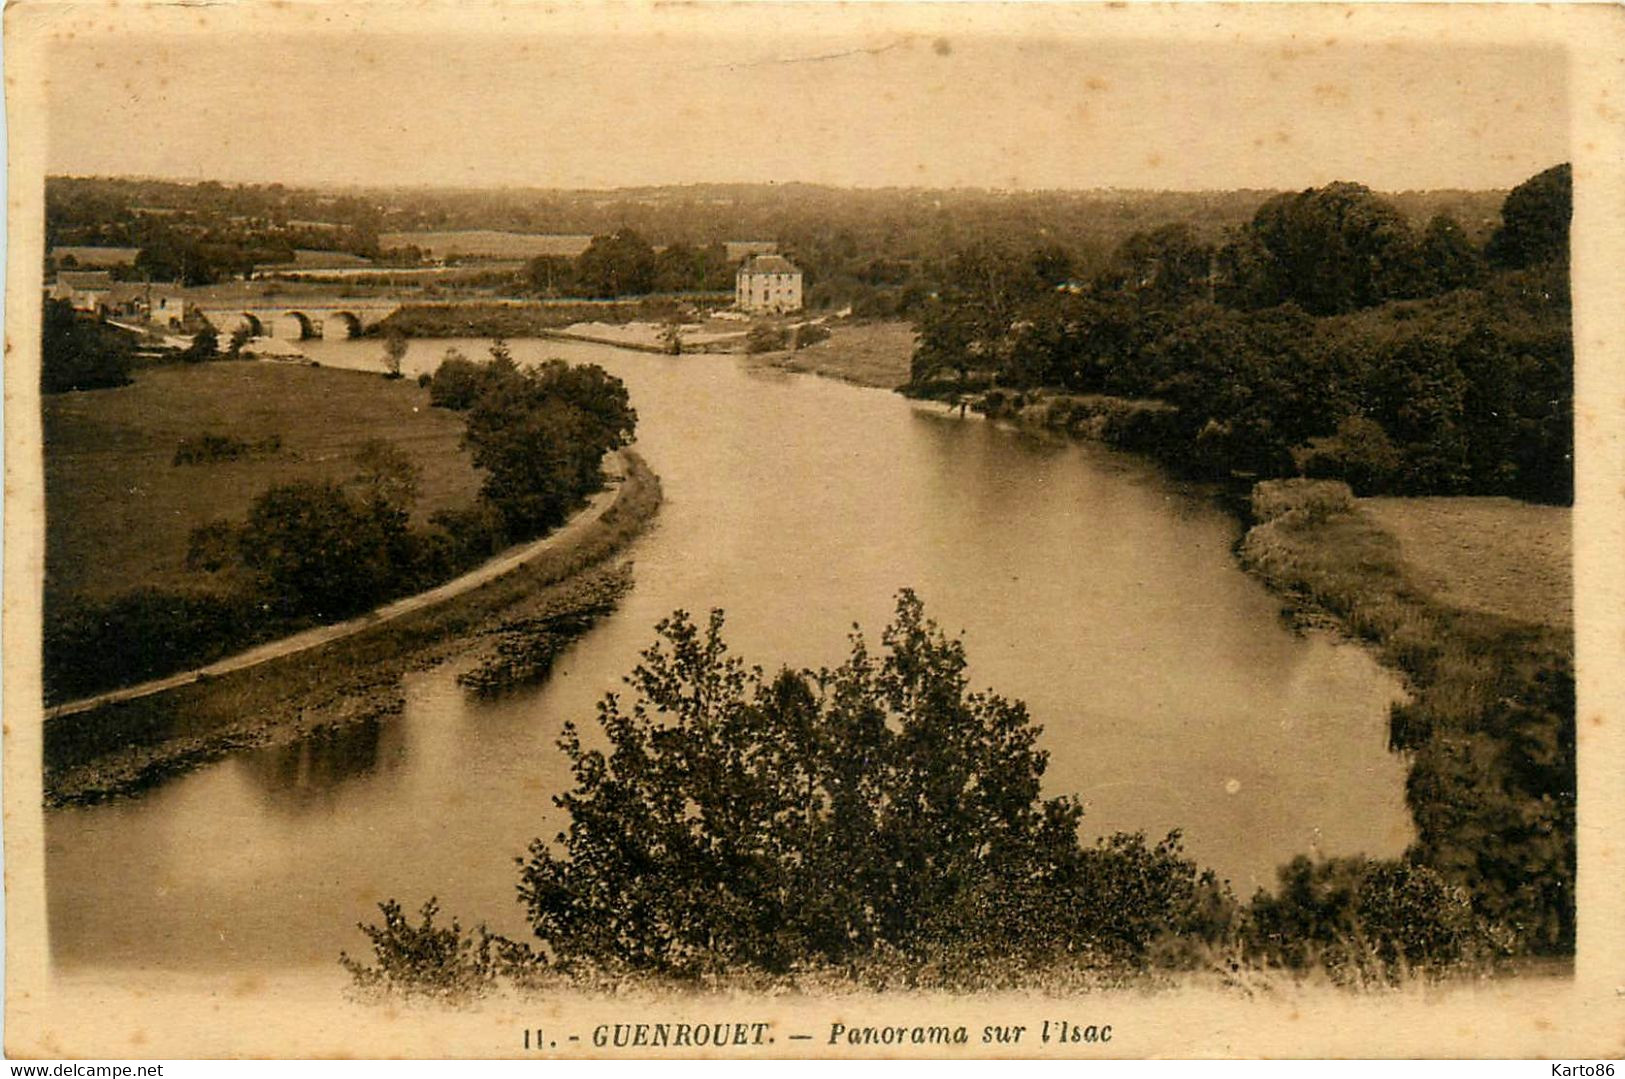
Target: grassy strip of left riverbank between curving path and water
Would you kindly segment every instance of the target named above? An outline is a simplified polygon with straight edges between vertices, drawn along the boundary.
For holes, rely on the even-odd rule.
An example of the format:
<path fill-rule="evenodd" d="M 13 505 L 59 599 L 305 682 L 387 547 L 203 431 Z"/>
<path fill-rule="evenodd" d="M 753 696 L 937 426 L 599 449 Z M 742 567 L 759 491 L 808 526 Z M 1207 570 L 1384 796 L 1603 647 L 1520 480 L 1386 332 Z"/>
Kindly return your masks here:
<path fill-rule="evenodd" d="M 145 790 L 228 752 L 392 715 L 400 679 L 468 642 L 486 645 L 514 619 L 603 609 L 604 590 L 630 574 L 614 556 L 660 507 L 660 479 L 635 453 L 613 502 L 590 526 L 538 544 L 479 587 L 318 647 L 164 692 L 47 720 L 46 804 L 94 803 Z M 582 629 L 590 619 L 580 619 Z"/>

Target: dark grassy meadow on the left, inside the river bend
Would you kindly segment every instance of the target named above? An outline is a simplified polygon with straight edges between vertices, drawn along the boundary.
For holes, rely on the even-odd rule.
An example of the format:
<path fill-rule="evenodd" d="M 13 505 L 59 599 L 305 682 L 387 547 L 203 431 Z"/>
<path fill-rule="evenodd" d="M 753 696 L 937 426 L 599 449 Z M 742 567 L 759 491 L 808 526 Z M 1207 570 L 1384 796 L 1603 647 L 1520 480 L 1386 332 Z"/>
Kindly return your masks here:
<path fill-rule="evenodd" d="M 182 437 L 278 437 L 275 452 L 174 465 Z M 344 479 L 367 439 L 419 468 L 421 522 L 466 505 L 481 474 L 460 448 L 462 418 L 429 408 L 410 380 L 294 364 L 151 367 L 115 390 L 44 398 L 47 600 L 106 600 L 140 585 L 185 587 L 187 536 L 240 520 L 268 486 Z"/>

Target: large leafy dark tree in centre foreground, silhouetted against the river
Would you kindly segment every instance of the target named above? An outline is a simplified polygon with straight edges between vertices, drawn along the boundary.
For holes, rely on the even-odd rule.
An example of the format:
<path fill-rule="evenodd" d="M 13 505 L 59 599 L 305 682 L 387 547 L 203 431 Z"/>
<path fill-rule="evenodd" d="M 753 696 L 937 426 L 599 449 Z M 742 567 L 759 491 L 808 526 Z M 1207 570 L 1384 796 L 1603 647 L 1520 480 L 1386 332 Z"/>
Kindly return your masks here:
<path fill-rule="evenodd" d="M 554 960 L 694 975 L 884 952 L 1141 956 L 1194 931 L 1217 894 L 1176 840 L 1086 852 L 1079 804 L 1040 795 L 1040 728 L 1020 702 L 970 692 L 962 644 L 912 592 L 884 652 L 855 632 L 835 670 L 765 676 L 722 630 L 720 611 L 660 624 L 630 705 L 600 704 L 608 749 L 566 725 L 570 824 L 531 843 L 520 878 Z M 1131 895 L 1133 912 L 1108 910 Z"/>

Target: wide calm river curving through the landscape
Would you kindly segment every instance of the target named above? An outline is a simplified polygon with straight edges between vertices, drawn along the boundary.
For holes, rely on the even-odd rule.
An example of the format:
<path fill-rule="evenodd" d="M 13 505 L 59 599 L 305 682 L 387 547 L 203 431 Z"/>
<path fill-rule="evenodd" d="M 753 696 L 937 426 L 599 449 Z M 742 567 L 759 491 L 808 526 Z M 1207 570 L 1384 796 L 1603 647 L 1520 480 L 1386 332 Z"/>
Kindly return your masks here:
<path fill-rule="evenodd" d="M 309 344 L 380 369 L 377 341 Z M 406 372 L 452 344 L 484 349 L 413 341 Z M 478 702 L 452 663 L 408 676 L 398 717 L 49 812 L 60 968 L 336 972 L 388 897 L 522 934 L 514 860 L 562 824 L 559 726 L 592 725 L 676 608 L 723 608 L 752 663 L 817 666 L 853 622 L 878 647 L 915 588 L 964 634 L 973 684 L 1043 725 L 1046 791 L 1082 796 L 1087 834 L 1180 827 L 1243 897 L 1295 853 L 1410 840 L 1386 751 L 1398 682 L 1358 647 L 1290 632 L 1235 564 L 1237 523 L 1155 466 L 731 356 L 510 344 L 600 362 L 632 392 L 666 504 L 619 611 L 531 691 Z"/>

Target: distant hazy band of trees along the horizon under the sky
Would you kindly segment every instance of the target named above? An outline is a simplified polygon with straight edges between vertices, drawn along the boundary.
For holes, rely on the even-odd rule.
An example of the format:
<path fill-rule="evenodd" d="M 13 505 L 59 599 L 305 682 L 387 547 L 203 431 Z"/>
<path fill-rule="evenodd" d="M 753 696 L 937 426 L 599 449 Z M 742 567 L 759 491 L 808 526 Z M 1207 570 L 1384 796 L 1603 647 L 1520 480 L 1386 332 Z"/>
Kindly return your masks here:
<path fill-rule="evenodd" d="M 944 283 L 956 252 L 999 237 L 1050 245 L 1079 275 L 1100 270 L 1124 237 L 1162 221 L 1191 221 L 1220 237 L 1246 223 L 1272 192 L 993 192 L 812 184 L 715 184 L 566 190 L 310 190 L 281 184 L 49 177 L 46 239 L 54 245 L 148 249 L 135 276 L 203 284 L 288 263 L 296 249 L 338 250 L 414 265 L 411 247 L 385 249 L 387 232 L 499 229 L 611 237 L 632 231 L 653 247 L 707 250 L 726 240 L 770 240 L 806 275 L 812 309 L 908 315 Z M 1436 213 L 1484 242 L 1505 192 L 1404 192 L 1391 198 L 1414 223 Z M 538 263 L 546 266 L 546 260 Z M 731 276 L 722 284 L 731 284 Z M 559 281 L 551 281 L 552 288 Z M 546 292 L 546 273 L 507 288 Z M 694 284 L 692 288 L 712 288 Z M 582 292 L 590 294 L 590 292 Z"/>

